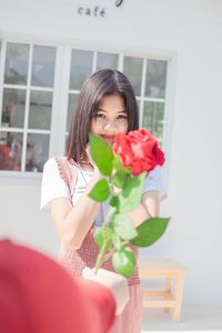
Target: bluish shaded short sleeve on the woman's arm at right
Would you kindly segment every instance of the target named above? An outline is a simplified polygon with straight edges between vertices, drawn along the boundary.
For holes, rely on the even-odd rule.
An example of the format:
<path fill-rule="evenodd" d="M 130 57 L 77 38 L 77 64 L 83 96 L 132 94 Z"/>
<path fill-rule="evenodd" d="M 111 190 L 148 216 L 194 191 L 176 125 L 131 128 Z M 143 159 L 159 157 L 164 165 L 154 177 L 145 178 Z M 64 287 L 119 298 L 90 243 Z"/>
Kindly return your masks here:
<path fill-rule="evenodd" d="M 167 198 L 160 165 L 157 165 L 145 178 L 142 192 L 145 193 L 149 191 L 159 191 L 161 201 Z"/>

